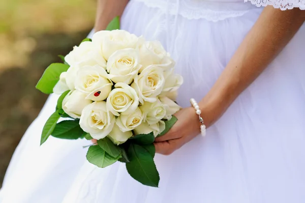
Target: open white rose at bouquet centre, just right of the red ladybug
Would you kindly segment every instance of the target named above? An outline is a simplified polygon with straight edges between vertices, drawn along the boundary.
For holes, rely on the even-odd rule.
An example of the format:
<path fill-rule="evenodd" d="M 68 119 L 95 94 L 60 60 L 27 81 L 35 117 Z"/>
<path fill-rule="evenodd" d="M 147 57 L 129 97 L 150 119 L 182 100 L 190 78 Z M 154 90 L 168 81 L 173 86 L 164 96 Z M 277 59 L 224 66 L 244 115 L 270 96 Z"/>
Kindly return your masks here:
<path fill-rule="evenodd" d="M 107 109 L 116 116 L 119 113 L 130 114 L 135 111 L 139 105 L 136 91 L 122 82 L 116 83 L 114 87 L 107 98 Z"/>

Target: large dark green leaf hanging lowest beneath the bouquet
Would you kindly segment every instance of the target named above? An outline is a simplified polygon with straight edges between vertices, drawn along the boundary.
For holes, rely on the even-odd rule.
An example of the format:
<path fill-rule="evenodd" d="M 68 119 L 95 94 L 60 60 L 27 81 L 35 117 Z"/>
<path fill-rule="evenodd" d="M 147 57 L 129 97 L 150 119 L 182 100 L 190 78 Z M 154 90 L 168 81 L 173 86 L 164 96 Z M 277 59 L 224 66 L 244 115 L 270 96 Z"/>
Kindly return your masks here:
<path fill-rule="evenodd" d="M 130 162 L 126 163 L 128 173 L 143 185 L 158 187 L 160 177 L 153 157 L 137 144 L 131 144 L 128 150 Z"/>

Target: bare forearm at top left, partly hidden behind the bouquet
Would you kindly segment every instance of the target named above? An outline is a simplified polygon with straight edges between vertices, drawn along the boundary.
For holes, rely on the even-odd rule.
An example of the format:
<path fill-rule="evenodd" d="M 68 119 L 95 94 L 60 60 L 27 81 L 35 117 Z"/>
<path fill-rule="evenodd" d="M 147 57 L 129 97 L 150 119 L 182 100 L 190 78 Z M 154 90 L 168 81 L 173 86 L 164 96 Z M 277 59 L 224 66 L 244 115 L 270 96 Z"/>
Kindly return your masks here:
<path fill-rule="evenodd" d="M 95 32 L 105 30 L 115 16 L 121 16 L 127 3 L 128 0 L 98 0 Z"/>

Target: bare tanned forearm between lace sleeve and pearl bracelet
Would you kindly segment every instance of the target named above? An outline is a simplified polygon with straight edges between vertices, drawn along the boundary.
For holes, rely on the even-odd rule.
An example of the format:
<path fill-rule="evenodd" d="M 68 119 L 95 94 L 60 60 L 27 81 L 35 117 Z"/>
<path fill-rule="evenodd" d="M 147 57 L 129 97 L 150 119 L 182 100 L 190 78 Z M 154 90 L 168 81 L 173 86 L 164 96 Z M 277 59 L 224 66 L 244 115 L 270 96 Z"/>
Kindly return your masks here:
<path fill-rule="evenodd" d="M 211 111 L 208 126 L 226 111 L 285 47 L 305 20 L 305 11 L 266 7 L 208 94 L 200 101 Z"/>

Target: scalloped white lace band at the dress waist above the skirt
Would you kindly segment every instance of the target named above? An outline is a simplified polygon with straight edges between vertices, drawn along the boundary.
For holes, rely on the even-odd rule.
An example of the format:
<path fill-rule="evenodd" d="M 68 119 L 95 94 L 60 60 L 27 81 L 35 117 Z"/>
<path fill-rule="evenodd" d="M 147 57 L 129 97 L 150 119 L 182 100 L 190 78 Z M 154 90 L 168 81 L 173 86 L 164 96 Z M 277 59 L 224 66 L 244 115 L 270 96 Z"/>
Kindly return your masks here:
<path fill-rule="evenodd" d="M 242 16 L 253 6 L 243 2 L 210 2 L 198 0 L 134 0 L 147 7 L 158 8 L 171 15 L 180 15 L 187 19 L 204 18 L 219 21 L 230 17 Z"/>

